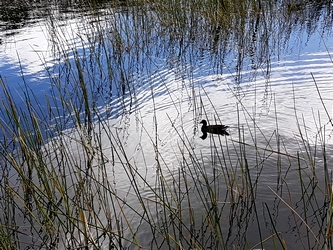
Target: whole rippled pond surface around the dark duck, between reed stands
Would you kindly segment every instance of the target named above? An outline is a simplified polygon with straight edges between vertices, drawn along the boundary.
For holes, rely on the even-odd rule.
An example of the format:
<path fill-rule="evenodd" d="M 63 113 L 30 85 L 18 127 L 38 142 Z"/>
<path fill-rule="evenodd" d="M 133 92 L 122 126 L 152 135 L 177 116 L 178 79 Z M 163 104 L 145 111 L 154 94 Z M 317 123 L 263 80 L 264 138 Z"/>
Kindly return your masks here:
<path fill-rule="evenodd" d="M 282 10 L 283 5 L 277 7 Z M 32 106 L 38 119 L 45 121 L 41 126 L 49 137 L 45 148 L 65 147 L 77 159 L 75 164 L 85 164 L 84 147 L 77 144 L 82 136 L 77 117 L 88 119 L 84 91 L 77 88 L 83 72 L 94 111 L 92 131 L 108 159 L 107 179 L 126 204 L 115 210 L 130 218 L 132 230 L 124 230 L 124 238 L 132 239 L 134 229 L 142 247 L 163 246 L 163 239 L 155 239 L 151 227 L 136 213 L 151 213 L 159 225 L 165 219 L 163 210 L 147 212 L 139 198 L 147 203 L 155 200 L 167 183 L 168 188 L 188 197 L 179 209 L 184 213 L 182 220 L 198 235 L 208 230 L 209 226 L 200 228 L 198 224 L 205 221 L 205 212 L 212 211 L 211 200 L 218 200 L 218 207 L 227 207 L 219 215 L 227 249 L 272 249 L 272 242 L 259 244 L 276 233 L 271 223 L 288 249 L 304 247 L 302 239 L 309 231 L 322 241 L 318 231 L 323 228 L 316 219 L 326 212 L 324 162 L 329 168 L 333 163 L 329 10 L 321 9 L 316 21 L 305 18 L 306 24 L 295 21 L 289 28 L 280 25 L 280 16 L 270 20 L 258 15 L 244 24 L 245 33 L 225 37 L 219 27 L 202 28 L 203 20 L 187 34 L 169 30 L 158 22 L 153 8 L 147 20 L 156 23 L 143 25 L 140 12 L 131 12 L 131 8 L 57 10 L 50 13 L 51 19 L 38 16 L 22 27 L 1 31 L 5 37 L 0 44 L 2 81 L 18 109 L 24 113 Z M 301 18 L 290 16 L 290 20 Z M 261 26 L 265 22 L 270 26 L 267 30 Z M 3 90 L 0 94 L 4 99 Z M 26 96 L 30 96 L 28 104 Z M 76 106 L 79 115 L 58 102 L 60 96 Z M 5 113 L 2 109 L 1 119 L 10 123 Z M 202 140 L 202 119 L 228 125 L 230 136 L 209 134 Z M 124 170 L 124 162 L 135 174 Z M 314 170 L 315 178 L 309 177 Z M 249 178 L 246 173 L 251 173 Z M 299 181 L 302 175 L 306 177 L 304 186 Z M 201 183 L 200 189 L 197 183 Z M 211 194 L 207 183 L 214 183 L 215 199 L 207 198 Z M 308 208 L 312 203 L 300 198 L 309 194 L 304 192 L 309 187 L 318 194 L 317 207 Z M 245 198 L 249 196 L 255 202 Z M 98 206 L 99 201 L 95 202 Z M 185 212 L 188 207 L 191 211 Z M 311 230 L 304 226 L 304 219 Z M 27 224 L 22 219 L 22 225 Z M 317 249 L 316 237 L 308 238 Z M 29 241 L 29 237 L 23 239 Z M 214 242 L 211 236 L 203 236 L 203 242 L 210 240 Z M 105 246 L 110 247 L 110 241 L 105 240 Z M 58 247 L 69 246 L 68 242 Z M 33 244 L 38 245 L 38 240 L 32 240 Z M 136 247 L 130 241 L 122 244 Z M 202 246 L 222 248 L 214 244 Z"/>

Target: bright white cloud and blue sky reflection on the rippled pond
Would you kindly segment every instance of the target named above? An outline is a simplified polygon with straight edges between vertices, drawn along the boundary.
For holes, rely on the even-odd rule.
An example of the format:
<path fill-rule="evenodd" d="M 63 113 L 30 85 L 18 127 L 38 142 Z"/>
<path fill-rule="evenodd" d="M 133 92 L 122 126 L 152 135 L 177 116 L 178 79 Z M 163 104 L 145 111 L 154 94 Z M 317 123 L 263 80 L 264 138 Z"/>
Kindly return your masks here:
<path fill-rule="evenodd" d="M 130 19 L 126 14 L 122 18 L 122 21 Z M 150 41 L 151 43 L 143 44 L 143 50 L 146 49 L 146 51 L 139 53 L 138 58 L 134 60 L 131 53 L 135 54 L 134 52 L 137 52 L 135 49 L 141 48 L 135 47 L 129 39 L 126 41 L 128 42 L 126 46 L 119 45 L 123 54 L 116 59 L 122 64 L 120 66 L 111 64 L 117 71 L 116 79 L 111 80 L 119 84 L 124 77 L 129 84 L 109 91 L 107 87 L 113 82 L 110 83 L 111 80 L 105 72 L 108 70 L 106 61 L 110 58 L 108 53 L 99 49 L 99 45 L 103 41 L 108 41 L 106 38 L 110 34 L 106 32 L 104 40 L 98 40 L 97 35 L 95 36 L 93 31 L 86 30 L 80 21 L 82 20 L 68 20 L 57 27 L 61 29 L 59 34 L 64 35 L 63 40 L 58 41 L 59 47 L 63 49 L 61 51 L 63 55 L 54 50 L 52 34 L 48 33 L 47 24 L 44 22 L 24 27 L 19 33 L 7 38 L 0 45 L 1 77 L 12 91 L 19 107 L 25 107 L 24 101 L 19 98 L 24 93 L 19 87 L 23 81 L 35 94 L 42 108 L 45 104 L 44 95 L 50 96 L 55 93 L 52 91 L 57 81 L 68 95 L 66 96 L 68 100 L 72 100 L 71 97 L 77 94 L 78 99 L 73 99 L 73 103 L 80 105 L 82 104 L 81 92 L 75 92 L 78 76 L 75 74 L 75 69 L 68 75 L 66 70 L 75 65 L 75 59 L 82 59 L 82 72 L 85 79 L 87 82 L 91 80 L 91 83 L 97 83 L 92 86 L 97 86 L 98 90 L 92 89 L 90 93 L 91 98 L 95 95 L 98 99 L 94 100 L 97 103 L 95 115 L 105 114 L 107 129 L 109 129 L 101 132 L 102 144 L 107 145 L 103 153 L 106 158 L 112 159 L 113 152 L 109 150 L 110 139 L 105 134 L 109 131 L 117 134 L 129 161 L 138 172 L 142 173 L 142 176 L 146 177 L 147 183 L 156 181 L 159 168 L 159 163 L 156 161 L 158 157 L 163 158 L 163 164 L 170 167 L 172 173 L 177 173 L 183 157 L 190 159 L 189 155 L 184 153 L 187 146 L 196 155 L 202 157 L 200 161 L 207 168 L 208 176 L 214 179 L 215 171 L 220 174 L 219 171 L 228 168 L 216 160 L 224 148 L 213 147 L 214 140 L 221 139 L 226 144 L 240 141 L 239 129 L 251 143 L 253 142 L 251 139 L 255 137 L 257 143 L 255 146 L 268 148 L 266 151 L 262 150 L 263 155 L 276 150 L 274 146 L 277 147 L 278 143 L 274 140 L 274 143 L 267 143 L 267 140 L 277 134 L 278 130 L 279 136 L 286 142 L 285 149 L 290 154 L 296 154 L 299 148 L 294 139 L 301 139 L 297 138 L 300 127 L 307 132 L 307 139 L 312 147 L 318 142 L 318 130 L 323 130 L 325 126 L 327 130 L 325 142 L 331 150 L 332 127 L 318 94 L 321 94 L 324 105 L 332 117 L 333 63 L 329 55 L 329 52 L 333 51 L 332 37 L 322 38 L 317 33 L 308 37 L 304 30 L 301 34 L 295 31 L 288 41 L 288 46 L 272 49 L 271 53 L 268 53 L 270 58 L 266 58 L 267 61 L 253 61 L 248 52 L 242 51 L 241 46 L 233 44 L 228 50 L 229 54 L 223 58 L 223 62 L 211 53 L 212 48 L 205 42 L 196 44 L 188 40 L 185 45 L 182 45 L 180 41 L 174 42 L 177 39 L 173 37 L 163 40 L 162 36 L 157 35 L 150 37 L 154 38 Z M 87 35 L 84 32 L 91 32 L 91 34 Z M 96 39 L 93 46 L 87 46 L 89 42 L 84 35 L 87 37 L 91 35 Z M 206 38 L 202 37 L 202 39 L 205 41 Z M 139 42 L 143 42 L 143 39 Z M 156 43 L 155 46 L 151 46 L 154 43 Z M 325 47 L 325 44 L 329 47 Z M 112 52 L 117 52 L 116 46 L 117 44 L 107 44 L 105 47 Z M 238 69 L 240 65 L 238 56 L 243 52 L 242 68 Z M 184 56 L 177 57 L 181 53 L 184 53 L 182 54 Z M 112 54 L 112 56 L 116 55 L 117 53 Z M 191 57 L 191 55 L 195 56 Z M 144 65 L 138 65 L 139 62 Z M 98 63 L 102 66 L 98 67 Z M 99 71 L 99 69 L 102 70 Z M 118 70 L 124 72 L 125 76 Z M 201 140 L 198 123 L 203 118 L 208 119 L 212 124 L 223 123 L 230 126 L 228 129 L 230 138 L 209 135 L 205 141 Z M 99 117 L 96 121 L 98 119 Z M 252 129 L 248 126 L 249 121 L 255 121 L 257 127 Z M 70 125 L 73 127 L 74 121 L 72 122 Z M 299 126 L 297 122 L 301 125 Z M 98 128 L 99 123 L 96 122 L 94 125 Z M 64 128 L 72 128 L 71 126 Z M 75 134 L 75 132 L 72 134 L 71 130 L 66 132 L 70 136 Z M 253 134 L 255 134 L 254 137 Z M 76 142 L 69 140 L 66 146 L 79 160 L 84 159 L 83 156 L 80 157 L 83 150 L 75 148 Z M 268 145 L 273 146 L 269 148 Z M 250 166 L 258 166 L 258 155 L 251 154 L 253 151 L 253 147 L 249 147 L 248 162 Z M 237 150 L 230 152 L 232 160 L 237 159 L 237 153 Z M 268 186 L 271 183 L 275 184 L 275 180 L 279 178 L 278 173 L 275 172 L 275 158 L 272 160 L 263 157 L 263 159 L 267 164 L 261 175 L 263 181 L 259 186 L 261 192 L 258 193 L 258 202 L 272 197 Z M 284 158 L 282 162 L 286 168 L 288 164 L 291 164 Z M 328 162 L 331 163 L 332 159 Z M 237 165 L 236 160 L 234 164 Z M 109 167 L 108 174 L 110 179 L 113 178 L 115 189 L 124 194 L 125 199 L 131 198 L 132 187 L 119 162 L 116 161 Z M 291 172 L 293 170 L 294 168 Z M 288 172 L 289 169 L 283 171 Z M 288 177 L 290 185 L 293 185 L 293 181 L 297 179 L 297 173 L 288 173 Z M 170 183 L 174 180 L 171 174 L 166 178 Z M 223 180 L 220 184 L 222 182 Z M 144 188 L 146 183 L 140 184 L 142 195 L 153 198 L 154 194 L 151 190 L 146 191 Z M 296 188 L 295 185 L 295 190 Z M 221 190 L 221 193 L 224 192 L 225 190 Z M 295 196 L 298 194 L 297 189 Z M 137 204 L 133 206 L 135 205 Z M 201 206 L 200 203 L 196 205 L 198 208 Z M 262 211 L 262 208 L 260 209 Z M 283 216 L 288 217 L 289 214 L 283 214 Z M 133 222 L 136 222 L 136 219 L 134 218 Z M 145 235 L 147 231 L 142 230 L 141 233 Z"/>

